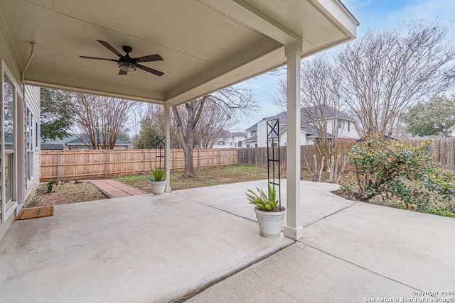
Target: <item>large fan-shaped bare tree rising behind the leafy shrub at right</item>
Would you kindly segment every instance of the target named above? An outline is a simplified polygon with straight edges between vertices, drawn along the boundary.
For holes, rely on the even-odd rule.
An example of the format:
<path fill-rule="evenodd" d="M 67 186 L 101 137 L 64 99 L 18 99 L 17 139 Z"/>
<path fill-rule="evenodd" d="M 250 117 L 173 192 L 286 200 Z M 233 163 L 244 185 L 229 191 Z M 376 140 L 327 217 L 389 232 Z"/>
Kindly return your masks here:
<path fill-rule="evenodd" d="M 392 136 L 400 117 L 419 99 L 450 87 L 454 48 L 448 28 L 414 21 L 392 30 L 369 31 L 338 54 L 343 100 L 366 136 Z"/>

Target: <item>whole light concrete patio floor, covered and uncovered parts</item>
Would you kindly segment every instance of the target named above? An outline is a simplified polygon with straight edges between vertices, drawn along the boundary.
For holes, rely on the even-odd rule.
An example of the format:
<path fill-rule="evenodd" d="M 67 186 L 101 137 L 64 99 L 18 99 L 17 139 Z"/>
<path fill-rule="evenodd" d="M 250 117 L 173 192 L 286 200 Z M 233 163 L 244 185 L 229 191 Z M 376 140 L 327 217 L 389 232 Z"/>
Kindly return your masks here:
<path fill-rule="evenodd" d="M 454 290 L 455 219 L 302 181 L 304 238 L 266 239 L 245 199 L 255 186 L 266 183 L 66 204 L 15 221 L 0 242 L 0 302 L 171 302 L 205 287 L 189 302 L 368 302 Z"/>

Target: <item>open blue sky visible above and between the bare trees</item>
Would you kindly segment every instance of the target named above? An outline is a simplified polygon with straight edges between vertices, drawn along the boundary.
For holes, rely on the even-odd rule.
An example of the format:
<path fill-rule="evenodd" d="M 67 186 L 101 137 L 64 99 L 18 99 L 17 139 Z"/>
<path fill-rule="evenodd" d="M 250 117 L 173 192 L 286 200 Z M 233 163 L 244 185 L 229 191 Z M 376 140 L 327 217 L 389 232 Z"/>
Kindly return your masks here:
<path fill-rule="evenodd" d="M 408 23 L 412 20 L 423 19 L 431 23 L 438 21 L 449 26 L 450 37 L 455 38 L 455 0 L 342 0 L 351 13 L 358 19 L 357 36 L 360 37 L 369 28 L 390 28 L 400 22 Z M 336 52 L 336 48 L 329 50 Z M 245 131 L 257 121 L 266 116 L 278 114 L 282 109 L 272 104 L 272 97 L 277 92 L 279 79 L 277 76 L 262 75 L 242 83 L 255 92 L 260 101 L 261 109 L 255 115 L 242 119 L 232 131 Z"/>

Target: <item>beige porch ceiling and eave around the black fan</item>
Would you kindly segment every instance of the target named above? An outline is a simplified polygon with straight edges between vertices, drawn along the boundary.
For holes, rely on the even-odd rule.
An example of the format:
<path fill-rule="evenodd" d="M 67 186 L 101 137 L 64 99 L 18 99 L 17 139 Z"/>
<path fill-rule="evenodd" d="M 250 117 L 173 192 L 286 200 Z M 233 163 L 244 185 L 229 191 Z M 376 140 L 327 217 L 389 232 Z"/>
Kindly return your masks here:
<path fill-rule="evenodd" d="M 338 0 L 3 0 L 0 26 L 25 82 L 170 105 L 200 97 L 284 64 L 283 45 L 304 55 L 355 37 L 358 22 Z M 164 61 L 117 75 L 105 40 L 132 57 Z M 1 42 L 1 41 L 0 41 Z"/>

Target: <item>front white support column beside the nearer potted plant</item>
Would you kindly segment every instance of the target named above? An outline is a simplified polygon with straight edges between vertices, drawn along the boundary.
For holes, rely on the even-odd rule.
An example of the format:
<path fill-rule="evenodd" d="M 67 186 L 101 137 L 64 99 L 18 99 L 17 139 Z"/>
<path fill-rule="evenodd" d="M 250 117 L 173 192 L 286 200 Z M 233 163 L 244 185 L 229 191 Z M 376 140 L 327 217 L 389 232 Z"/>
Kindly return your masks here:
<path fill-rule="evenodd" d="M 284 236 L 298 240 L 300 226 L 300 57 L 301 43 L 285 48 L 287 57 L 287 219 Z"/>

